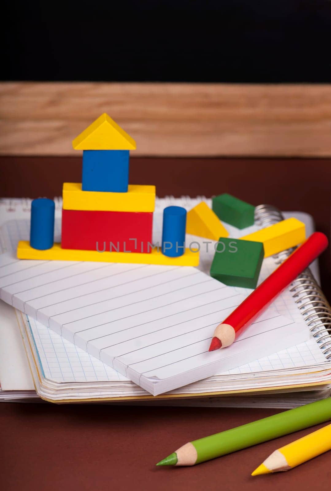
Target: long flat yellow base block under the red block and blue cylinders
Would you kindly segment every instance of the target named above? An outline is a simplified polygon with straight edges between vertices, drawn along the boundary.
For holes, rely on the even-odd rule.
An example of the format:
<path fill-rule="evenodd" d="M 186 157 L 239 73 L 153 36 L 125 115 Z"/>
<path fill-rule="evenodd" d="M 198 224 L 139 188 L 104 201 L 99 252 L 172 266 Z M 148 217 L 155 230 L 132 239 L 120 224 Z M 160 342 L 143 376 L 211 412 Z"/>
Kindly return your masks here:
<path fill-rule="evenodd" d="M 140 252 L 98 252 L 97 250 L 62 249 L 54 244 L 51 249 L 38 250 L 28 241 L 17 246 L 19 259 L 41 259 L 43 261 L 95 261 L 98 263 L 158 264 L 164 266 L 198 266 L 199 252 L 185 249 L 182 256 L 168 257 L 161 250 L 152 249 L 149 254 Z"/>

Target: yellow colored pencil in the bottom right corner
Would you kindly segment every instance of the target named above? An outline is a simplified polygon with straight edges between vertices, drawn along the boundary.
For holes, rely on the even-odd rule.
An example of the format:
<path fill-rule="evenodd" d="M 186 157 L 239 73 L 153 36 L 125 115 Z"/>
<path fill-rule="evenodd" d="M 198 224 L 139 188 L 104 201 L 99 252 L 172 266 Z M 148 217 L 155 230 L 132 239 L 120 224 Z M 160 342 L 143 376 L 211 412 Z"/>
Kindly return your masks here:
<path fill-rule="evenodd" d="M 278 448 L 252 472 L 252 476 L 293 469 L 328 450 L 331 450 L 331 425 Z"/>

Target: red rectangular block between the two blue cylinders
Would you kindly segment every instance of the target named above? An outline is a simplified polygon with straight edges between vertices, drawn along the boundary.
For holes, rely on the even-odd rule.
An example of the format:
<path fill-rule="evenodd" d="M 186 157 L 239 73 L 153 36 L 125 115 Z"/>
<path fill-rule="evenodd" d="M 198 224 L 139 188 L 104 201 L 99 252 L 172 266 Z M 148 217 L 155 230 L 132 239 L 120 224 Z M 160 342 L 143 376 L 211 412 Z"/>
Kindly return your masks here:
<path fill-rule="evenodd" d="M 148 243 L 152 242 L 152 227 L 153 213 L 62 210 L 61 246 L 64 249 L 151 252 Z"/>

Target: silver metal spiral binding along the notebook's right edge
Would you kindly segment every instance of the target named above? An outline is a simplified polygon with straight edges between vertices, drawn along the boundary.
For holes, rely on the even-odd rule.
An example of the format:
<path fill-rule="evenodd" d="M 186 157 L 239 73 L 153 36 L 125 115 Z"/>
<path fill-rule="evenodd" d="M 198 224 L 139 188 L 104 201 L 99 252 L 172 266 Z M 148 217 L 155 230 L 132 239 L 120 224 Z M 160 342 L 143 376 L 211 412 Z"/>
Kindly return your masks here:
<path fill-rule="evenodd" d="M 255 222 L 268 227 L 283 220 L 282 213 L 271 205 L 259 205 L 255 208 Z M 281 264 L 294 250 L 294 247 L 273 256 L 276 264 Z M 290 292 L 307 323 L 310 332 L 316 339 L 323 355 L 331 360 L 331 306 L 310 269 L 301 273 L 292 283 Z"/>

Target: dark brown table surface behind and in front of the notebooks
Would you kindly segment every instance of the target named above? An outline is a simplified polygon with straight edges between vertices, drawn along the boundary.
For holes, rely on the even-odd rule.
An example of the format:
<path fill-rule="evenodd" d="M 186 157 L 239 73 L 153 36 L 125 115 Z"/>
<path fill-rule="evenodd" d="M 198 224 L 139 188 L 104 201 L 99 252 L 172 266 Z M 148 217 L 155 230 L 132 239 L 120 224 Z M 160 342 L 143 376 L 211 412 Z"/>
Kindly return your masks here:
<path fill-rule="evenodd" d="M 52 198 L 63 181 L 81 180 L 81 159 L 1 157 L 0 173 L 1 196 Z M 156 184 L 159 196 L 229 192 L 307 212 L 330 238 L 330 159 L 132 159 L 130 182 Z M 330 252 L 320 269 L 330 300 Z M 2 403 L 1 485 L 6 491 L 330 490 L 330 452 L 289 472 L 250 477 L 273 450 L 310 430 L 195 467 L 154 466 L 187 441 L 276 412 Z"/>

